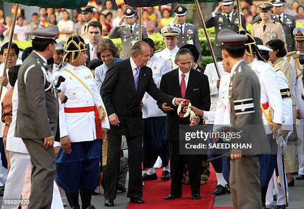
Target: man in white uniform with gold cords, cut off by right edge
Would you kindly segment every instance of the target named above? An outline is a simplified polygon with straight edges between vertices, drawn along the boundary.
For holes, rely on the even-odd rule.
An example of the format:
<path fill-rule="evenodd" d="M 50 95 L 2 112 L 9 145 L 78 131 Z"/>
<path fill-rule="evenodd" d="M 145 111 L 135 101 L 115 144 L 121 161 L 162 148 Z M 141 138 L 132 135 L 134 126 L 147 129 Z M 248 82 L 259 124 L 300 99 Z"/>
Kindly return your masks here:
<path fill-rule="evenodd" d="M 286 61 L 289 62 L 295 70 L 294 77 L 294 95 L 297 101 L 297 134 L 298 134 L 298 155 L 299 155 L 299 175 L 297 180 L 304 179 L 304 100 L 302 99 L 303 90 L 303 70 L 304 66 L 299 63 L 299 55 L 304 54 L 304 28 L 296 27 L 294 29 L 297 52 L 290 52 L 286 55 Z"/>

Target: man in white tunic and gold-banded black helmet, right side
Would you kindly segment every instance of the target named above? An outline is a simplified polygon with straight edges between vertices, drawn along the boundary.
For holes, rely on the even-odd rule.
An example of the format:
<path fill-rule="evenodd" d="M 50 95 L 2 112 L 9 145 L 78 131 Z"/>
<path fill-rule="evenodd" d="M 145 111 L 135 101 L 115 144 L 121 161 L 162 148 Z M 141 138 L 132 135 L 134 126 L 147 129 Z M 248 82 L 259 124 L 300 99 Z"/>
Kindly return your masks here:
<path fill-rule="evenodd" d="M 250 34 L 248 34 L 248 38 L 244 59 L 247 65 L 256 72 L 260 81 L 260 109 L 262 111 L 265 131 L 272 147 L 272 151 L 274 152 L 277 149 L 277 146 L 274 144 L 273 139 L 277 138 L 277 132 L 283 123 L 282 97 L 274 68 L 265 62 L 254 38 Z M 251 51 L 249 48 L 251 48 Z M 271 111 L 273 111 L 273 119 L 268 117 Z M 270 124 L 272 127 L 270 127 Z M 260 181 L 263 206 L 265 206 L 267 188 L 274 169 L 275 155 L 262 154 L 260 158 Z"/>

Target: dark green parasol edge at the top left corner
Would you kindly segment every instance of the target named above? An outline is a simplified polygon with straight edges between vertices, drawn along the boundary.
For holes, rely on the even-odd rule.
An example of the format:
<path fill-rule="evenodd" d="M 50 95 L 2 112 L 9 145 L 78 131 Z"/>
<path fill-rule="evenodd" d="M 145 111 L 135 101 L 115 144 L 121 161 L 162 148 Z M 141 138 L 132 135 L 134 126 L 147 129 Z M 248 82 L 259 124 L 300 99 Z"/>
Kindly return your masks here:
<path fill-rule="evenodd" d="M 39 6 L 46 8 L 75 9 L 85 7 L 88 0 L 4 0 L 11 3 L 20 3 L 27 6 Z"/>

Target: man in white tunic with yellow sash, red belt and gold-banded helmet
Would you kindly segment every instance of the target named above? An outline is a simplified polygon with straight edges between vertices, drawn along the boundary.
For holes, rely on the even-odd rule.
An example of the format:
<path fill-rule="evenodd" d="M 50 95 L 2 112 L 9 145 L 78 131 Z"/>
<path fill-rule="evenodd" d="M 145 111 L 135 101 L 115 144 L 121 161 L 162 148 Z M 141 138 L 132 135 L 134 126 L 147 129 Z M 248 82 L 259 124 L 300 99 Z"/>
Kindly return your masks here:
<path fill-rule="evenodd" d="M 67 41 L 66 63 L 55 73 L 66 78 L 59 89 L 68 96 L 59 113 L 61 149 L 56 159 L 56 182 L 73 209 L 79 209 L 79 190 L 82 209 L 95 209 L 91 196 L 99 179 L 99 139 L 110 128 L 93 74 L 83 66 L 86 50 L 83 39 L 74 32 Z"/>

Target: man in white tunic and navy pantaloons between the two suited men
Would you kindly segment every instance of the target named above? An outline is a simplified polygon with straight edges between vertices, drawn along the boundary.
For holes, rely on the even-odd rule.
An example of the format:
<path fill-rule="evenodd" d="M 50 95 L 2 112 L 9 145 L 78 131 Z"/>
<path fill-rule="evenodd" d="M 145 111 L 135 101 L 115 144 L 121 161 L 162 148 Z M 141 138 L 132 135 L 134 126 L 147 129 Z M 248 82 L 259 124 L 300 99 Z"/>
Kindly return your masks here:
<path fill-rule="evenodd" d="M 152 39 L 146 38 L 143 41 L 151 47 L 151 60 L 147 66 L 152 69 L 153 80 L 157 88 L 159 88 L 161 76 L 170 71 L 170 63 L 164 58 L 155 56 L 155 45 Z M 143 175 L 143 181 L 156 180 L 157 175 L 154 170 L 154 163 L 157 156 L 160 157 L 163 171 L 161 180 L 169 180 L 170 165 L 169 165 L 169 149 L 165 139 L 166 115 L 156 105 L 154 100 L 147 92 L 143 98 L 143 119 L 144 119 L 144 134 L 143 134 L 143 166 L 148 168 L 148 171 Z"/>

